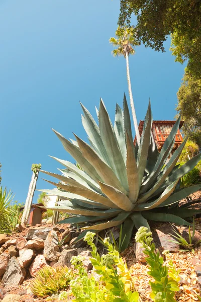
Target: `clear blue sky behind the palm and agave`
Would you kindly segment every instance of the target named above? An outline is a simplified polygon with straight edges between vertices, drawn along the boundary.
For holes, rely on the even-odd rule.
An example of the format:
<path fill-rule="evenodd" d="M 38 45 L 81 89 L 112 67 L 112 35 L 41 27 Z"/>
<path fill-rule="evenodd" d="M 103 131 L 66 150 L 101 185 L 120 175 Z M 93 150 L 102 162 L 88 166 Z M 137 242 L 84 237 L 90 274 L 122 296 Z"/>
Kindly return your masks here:
<path fill-rule="evenodd" d="M 0 102 L 2 185 L 25 202 L 31 165 L 61 168 L 52 155 L 71 160 L 51 127 L 66 138 L 85 139 L 81 101 L 95 115 L 102 97 L 114 120 L 116 103 L 128 97 L 126 62 L 114 58 L 117 0 L 2 0 L 0 2 Z M 151 99 L 154 119 L 173 119 L 183 68 L 169 52 L 143 45 L 130 57 L 138 121 Z M 50 188 L 39 176 L 37 188 Z M 37 200 L 35 193 L 34 201 Z"/>

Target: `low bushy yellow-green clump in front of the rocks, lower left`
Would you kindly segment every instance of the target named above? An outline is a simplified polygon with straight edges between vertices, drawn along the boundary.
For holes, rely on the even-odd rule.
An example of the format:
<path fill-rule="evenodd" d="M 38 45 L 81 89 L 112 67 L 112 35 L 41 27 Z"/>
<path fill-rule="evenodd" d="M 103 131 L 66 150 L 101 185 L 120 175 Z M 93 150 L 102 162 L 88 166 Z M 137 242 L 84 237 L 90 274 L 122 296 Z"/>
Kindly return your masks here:
<path fill-rule="evenodd" d="M 40 297 L 46 297 L 69 286 L 73 273 L 68 267 L 44 267 L 31 282 L 31 291 Z"/>

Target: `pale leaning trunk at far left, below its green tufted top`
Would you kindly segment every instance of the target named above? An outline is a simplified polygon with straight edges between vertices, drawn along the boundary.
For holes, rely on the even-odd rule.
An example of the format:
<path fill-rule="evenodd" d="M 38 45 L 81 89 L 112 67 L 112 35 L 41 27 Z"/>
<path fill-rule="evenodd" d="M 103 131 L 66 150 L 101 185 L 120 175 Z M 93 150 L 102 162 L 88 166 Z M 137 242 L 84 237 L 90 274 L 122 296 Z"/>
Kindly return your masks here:
<path fill-rule="evenodd" d="M 39 172 L 36 171 L 36 173 L 33 172 L 33 175 L 32 175 L 32 179 L 31 179 L 31 182 L 29 185 L 29 192 L 28 192 L 27 199 L 25 202 L 25 209 L 24 209 L 24 213 L 22 216 L 22 223 L 27 223 L 27 221 L 29 219 L 32 201 L 33 201 L 33 197 L 34 197 L 34 192 L 36 189 L 36 182 L 38 179 L 38 174 L 39 174 Z"/>

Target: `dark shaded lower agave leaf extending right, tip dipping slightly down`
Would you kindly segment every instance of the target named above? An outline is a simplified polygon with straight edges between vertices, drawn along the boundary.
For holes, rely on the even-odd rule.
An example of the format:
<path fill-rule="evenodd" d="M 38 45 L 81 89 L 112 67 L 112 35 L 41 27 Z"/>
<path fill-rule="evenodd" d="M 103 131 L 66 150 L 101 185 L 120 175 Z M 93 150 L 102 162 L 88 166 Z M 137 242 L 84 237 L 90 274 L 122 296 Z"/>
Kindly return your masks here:
<path fill-rule="evenodd" d="M 176 223 L 178 225 L 191 225 L 189 222 L 182 219 L 181 217 L 178 217 L 178 216 L 172 215 L 172 214 L 143 211 L 142 215 L 144 218 L 146 218 L 148 220 L 166 221 L 166 222 Z M 180 215 L 180 213 L 179 213 L 179 215 Z"/>

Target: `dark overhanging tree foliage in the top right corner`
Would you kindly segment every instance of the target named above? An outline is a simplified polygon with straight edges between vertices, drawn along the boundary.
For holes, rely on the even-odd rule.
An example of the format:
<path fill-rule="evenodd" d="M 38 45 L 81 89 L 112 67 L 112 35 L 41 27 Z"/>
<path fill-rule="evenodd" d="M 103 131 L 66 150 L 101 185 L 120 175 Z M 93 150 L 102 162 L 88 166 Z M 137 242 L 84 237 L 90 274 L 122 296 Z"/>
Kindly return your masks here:
<path fill-rule="evenodd" d="M 164 41 L 172 36 L 176 60 L 189 59 L 188 68 L 201 73 L 201 6 L 199 0 L 121 0 L 120 26 L 131 26 L 132 13 L 137 24 L 132 26 L 139 43 L 164 51 Z M 174 46 L 173 46 L 174 45 Z"/>

